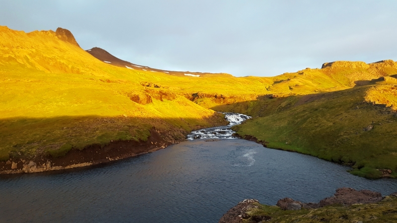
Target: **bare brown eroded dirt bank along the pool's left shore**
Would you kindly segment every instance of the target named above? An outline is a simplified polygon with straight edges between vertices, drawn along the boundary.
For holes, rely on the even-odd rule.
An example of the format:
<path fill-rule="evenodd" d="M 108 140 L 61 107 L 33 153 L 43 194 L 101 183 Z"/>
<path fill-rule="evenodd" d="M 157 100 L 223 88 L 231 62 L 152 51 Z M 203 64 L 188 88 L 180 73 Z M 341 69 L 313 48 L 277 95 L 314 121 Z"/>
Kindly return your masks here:
<path fill-rule="evenodd" d="M 34 158 L 10 158 L 6 162 L 0 162 L 0 174 L 43 172 L 107 163 L 164 149 L 180 141 L 182 140 L 163 137 L 152 128 L 147 141 L 111 141 L 104 147 L 94 144 L 82 150 L 72 149 L 66 156 L 58 158 L 44 155 Z"/>

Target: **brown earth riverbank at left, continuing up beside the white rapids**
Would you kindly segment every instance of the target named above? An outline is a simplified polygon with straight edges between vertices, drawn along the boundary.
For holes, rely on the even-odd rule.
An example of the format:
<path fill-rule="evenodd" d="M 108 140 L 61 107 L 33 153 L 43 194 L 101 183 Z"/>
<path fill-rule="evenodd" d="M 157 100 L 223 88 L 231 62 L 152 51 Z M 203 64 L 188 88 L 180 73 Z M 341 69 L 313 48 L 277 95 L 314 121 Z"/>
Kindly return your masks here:
<path fill-rule="evenodd" d="M 155 123 L 152 121 L 152 124 Z M 206 124 L 217 126 L 226 123 L 227 121 L 221 113 L 214 113 L 211 117 L 206 118 Z M 183 128 L 176 128 L 172 125 L 165 129 L 164 126 L 160 125 L 160 127 L 162 128 L 152 127 L 147 130 L 148 134 L 146 134 L 145 140 L 140 138 L 123 140 L 117 139 L 117 137 L 112 140 L 112 137 L 109 137 L 102 143 L 99 141 L 85 145 L 80 149 L 76 144 L 71 145 L 65 152 L 58 152 L 58 149 L 55 150 L 57 153 L 43 152 L 34 156 L 16 154 L 7 161 L 0 162 L 0 174 L 44 172 L 108 163 L 164 149 L 169 145 L 185 141 L 185 137 L 189 133 Z M 208 126 L 196 125 L 191 129 L 196 130 L 203 127 Z"/>

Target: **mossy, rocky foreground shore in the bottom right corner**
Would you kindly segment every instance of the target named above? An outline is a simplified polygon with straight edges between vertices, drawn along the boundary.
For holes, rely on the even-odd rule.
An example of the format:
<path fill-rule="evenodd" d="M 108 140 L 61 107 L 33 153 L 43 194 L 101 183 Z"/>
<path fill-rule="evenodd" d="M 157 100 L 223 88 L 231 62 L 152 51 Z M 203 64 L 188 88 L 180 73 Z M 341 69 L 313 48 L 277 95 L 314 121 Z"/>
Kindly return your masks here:
<path fill-rule="evenodd" d="M 319 203 L 283 198 L 276 206 L 268 206 L 246 199 L 224 214 L 219 223 L 397 222 L 396 204 L 397 193 L 382 197 L 378 192 L 343 187 Z"/>

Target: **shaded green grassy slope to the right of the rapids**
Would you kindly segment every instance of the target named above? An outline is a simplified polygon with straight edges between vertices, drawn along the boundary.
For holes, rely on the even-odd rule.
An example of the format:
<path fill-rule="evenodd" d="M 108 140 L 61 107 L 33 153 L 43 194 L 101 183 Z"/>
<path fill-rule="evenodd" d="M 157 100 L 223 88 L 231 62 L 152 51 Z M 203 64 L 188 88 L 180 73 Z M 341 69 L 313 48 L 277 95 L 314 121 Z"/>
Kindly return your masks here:
<path fill-rule="evenodd" d="M 262 117 L 250 119 L 235 130 L 268 142 L 269 148 L 352 165 L 353 174 L 379 178 L 377 169 L 397 172 L 397 119 L 391 108 L 365 102 L 371 88 L 264 99 L 253 107 L 267 106 L 266 112 L 251 109 Z M 364 131 L 370 124 L 373 129 Z"/>

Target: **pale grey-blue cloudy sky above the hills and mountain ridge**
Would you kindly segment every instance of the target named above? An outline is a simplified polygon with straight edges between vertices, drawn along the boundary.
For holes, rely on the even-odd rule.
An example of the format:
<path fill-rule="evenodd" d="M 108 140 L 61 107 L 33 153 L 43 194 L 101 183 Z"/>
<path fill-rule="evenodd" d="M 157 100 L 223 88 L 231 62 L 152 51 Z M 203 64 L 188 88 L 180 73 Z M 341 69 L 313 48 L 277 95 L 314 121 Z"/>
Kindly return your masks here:
<path fill-rule="evenodd" d="M 275 76 L 397 60 L 396 0 L 0 0 L 0 25 L 70 30 L 158 69 Z"/>

